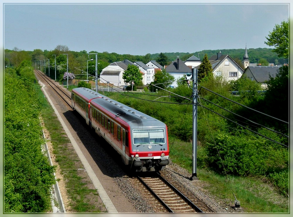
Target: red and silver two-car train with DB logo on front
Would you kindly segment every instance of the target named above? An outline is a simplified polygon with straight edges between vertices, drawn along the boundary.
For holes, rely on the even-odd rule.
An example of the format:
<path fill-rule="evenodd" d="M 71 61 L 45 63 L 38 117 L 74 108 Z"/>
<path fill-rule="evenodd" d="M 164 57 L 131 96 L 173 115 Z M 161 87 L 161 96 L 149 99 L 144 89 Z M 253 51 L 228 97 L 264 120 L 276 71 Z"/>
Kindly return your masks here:
<path fill-rule="evenodd" d="M 71 92 L 72 109 L 135 171 L 159 171 L 169 163 L 167 126 L 91 89 Z"/>

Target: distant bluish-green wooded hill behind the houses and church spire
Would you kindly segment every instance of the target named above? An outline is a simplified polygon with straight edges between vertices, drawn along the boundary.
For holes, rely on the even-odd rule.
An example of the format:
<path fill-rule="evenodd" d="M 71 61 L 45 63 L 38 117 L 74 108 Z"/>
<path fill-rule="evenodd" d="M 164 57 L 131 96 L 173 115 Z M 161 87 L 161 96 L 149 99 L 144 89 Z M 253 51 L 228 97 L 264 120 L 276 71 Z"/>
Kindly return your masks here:
<path fill-rule="evenodd" d="M 197 51 L 194 53 L 163 53 L 165 54 L 168 58 L 169 61 L 174 61 L 177 56 L 182 61 L 187 60 L 190 56 L 196 56 L 197 58 L 200 58 L 200 60 L 203 59 L 205 54 L 207 54 L 208 58 L 210 58 L 213 55 L 217 55 L 217 53 L 221 51 L 223 55 L 228 54 L 231 56 L 231 58 L 236 59 L 238 58 L 239 60 L 243 60 L 243 56 L 245 53 L 245 49 L 222 49 L 222 50 L 203 50 L 203 51 Z M 284 59 L 279 58 L 276 53 L 272 51 L 271 48 L 249 48 L 247 49 L 247 54 L 250 60 L 250 63 L 258 63 L 258 60 L 261 58 L 265 58 L 269 63 L 274 63 L 275 65 L 280 65 L 284 64 Z M 156 60 L 158 58 L 159 54 L 151 54 L 151 59 Z M 286 60 L 285 60 L 286 63 Z"/>

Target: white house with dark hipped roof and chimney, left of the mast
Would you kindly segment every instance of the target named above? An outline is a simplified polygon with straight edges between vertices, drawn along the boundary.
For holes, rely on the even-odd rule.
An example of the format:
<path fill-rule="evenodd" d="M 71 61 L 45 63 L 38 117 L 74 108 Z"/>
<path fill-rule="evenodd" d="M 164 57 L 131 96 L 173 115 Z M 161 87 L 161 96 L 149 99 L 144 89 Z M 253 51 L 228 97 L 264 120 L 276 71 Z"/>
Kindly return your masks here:
<path fill-rule="evenodd" d="M 192 66 L 186 66 L 185 63 L 179 59 L 179 56 L 177 56 L 176 61 L 173 61 L 169 66 L 166 66 L 165 70 L 175 78 L 171 87 L 177 87 L 177 79 L 182 78 L 187 73 L 191 73 Z"/>

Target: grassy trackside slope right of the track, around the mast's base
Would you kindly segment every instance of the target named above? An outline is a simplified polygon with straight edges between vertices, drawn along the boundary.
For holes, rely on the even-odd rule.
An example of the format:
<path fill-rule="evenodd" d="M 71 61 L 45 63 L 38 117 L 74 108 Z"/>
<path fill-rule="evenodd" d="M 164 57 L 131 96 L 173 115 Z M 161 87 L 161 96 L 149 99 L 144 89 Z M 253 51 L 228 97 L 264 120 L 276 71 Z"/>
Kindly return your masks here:
<path fill-rule="evenodd" d="M 174 141 L 174 142 L 173 142 Z M 169 136 L 170 159 L 173 163 L 192 173 L 192 144 Z M 201 168 L 205 150 L 197 147 L 197 178 L 205 182 L 202 186 L 218 199 L 228 199 L 234 204 L 234 194 L 246 213 L 288 213 L 288 197 L 278 193 L 265 177 L 239 177 L 217 174 Z M 233 194 L 234 193 L 234 194 Z"/>

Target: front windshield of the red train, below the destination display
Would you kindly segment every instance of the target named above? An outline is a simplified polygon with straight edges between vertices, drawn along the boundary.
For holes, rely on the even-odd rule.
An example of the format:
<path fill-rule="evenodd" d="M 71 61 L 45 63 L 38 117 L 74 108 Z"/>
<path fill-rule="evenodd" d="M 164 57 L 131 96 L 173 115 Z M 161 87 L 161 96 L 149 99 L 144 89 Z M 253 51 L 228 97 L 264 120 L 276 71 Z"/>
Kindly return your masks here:
<path fill-rule="evenodd" d="M 165 144 L 164 129 L 133 130 L 134 145 Z"/>

